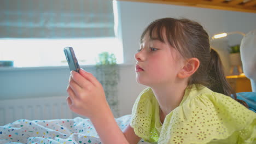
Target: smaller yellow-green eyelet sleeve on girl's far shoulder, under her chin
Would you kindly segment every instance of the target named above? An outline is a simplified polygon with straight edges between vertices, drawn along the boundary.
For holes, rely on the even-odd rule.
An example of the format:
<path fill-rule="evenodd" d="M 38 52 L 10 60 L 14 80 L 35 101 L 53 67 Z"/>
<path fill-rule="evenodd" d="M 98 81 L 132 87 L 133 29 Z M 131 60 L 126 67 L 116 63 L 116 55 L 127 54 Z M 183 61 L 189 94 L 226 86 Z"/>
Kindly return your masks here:
<path fill-rule="evenodd" d="M 156 142 L 159 133 L 155 128 L 155 119 L 159 119 L 159 105 L 151 88 L 139 94 L 132 107 L 131 127 L 144 141 Z"/>

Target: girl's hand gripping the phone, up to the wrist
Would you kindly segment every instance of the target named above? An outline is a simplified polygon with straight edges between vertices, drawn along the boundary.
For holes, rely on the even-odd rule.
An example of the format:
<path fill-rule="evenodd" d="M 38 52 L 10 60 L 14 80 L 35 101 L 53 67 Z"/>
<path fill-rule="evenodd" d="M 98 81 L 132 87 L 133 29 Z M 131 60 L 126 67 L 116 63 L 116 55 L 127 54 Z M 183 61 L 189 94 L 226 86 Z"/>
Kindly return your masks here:
<path fill-rule="evenodd" d="M 79 73 L 71 71 L 67 92 L 69 109 L 79 115 L 95 118 L 109 110 L 101 83 L 83 69 Z"/>

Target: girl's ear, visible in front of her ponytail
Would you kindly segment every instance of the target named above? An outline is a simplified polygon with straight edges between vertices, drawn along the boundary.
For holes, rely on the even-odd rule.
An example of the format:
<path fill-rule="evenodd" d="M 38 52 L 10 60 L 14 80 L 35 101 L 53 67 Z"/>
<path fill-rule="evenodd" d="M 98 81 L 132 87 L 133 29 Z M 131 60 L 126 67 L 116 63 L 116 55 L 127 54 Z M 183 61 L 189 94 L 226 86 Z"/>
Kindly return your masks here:
<path fill-rule="evenodd" d="M 179 71 L 178 77 L 180 79 L 187 78 L 195 73 L 195 71 L 199 68 L 200 61 L 199 59 L 193 57 L 187 59 L 183 68 Z"/>

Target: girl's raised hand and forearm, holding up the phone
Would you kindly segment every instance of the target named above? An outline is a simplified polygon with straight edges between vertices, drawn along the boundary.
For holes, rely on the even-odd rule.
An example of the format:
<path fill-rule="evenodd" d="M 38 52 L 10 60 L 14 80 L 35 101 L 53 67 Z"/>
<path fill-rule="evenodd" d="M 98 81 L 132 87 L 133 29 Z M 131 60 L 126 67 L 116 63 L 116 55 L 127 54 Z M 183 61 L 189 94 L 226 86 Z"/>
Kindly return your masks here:
<path fill-rule="evenodd" d="M 124 134 L 115 122 L 101 83 L 90 73 L 72 71 L 67 87 L 69 108 L 91 119 L 103 143 L 125 143 Z"/>

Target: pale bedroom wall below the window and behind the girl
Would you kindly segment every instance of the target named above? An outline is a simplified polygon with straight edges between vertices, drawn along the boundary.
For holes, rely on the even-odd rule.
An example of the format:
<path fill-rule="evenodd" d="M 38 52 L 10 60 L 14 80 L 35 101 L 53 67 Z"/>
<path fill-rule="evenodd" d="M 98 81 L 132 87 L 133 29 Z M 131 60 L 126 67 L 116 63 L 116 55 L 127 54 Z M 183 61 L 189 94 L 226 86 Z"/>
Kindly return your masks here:
<path fill-rule="evenodd" d="M 119 2 L 120 31 L 123 40 L 124 61 L 120 65 L 119 101 L 120 113 L 126 115 L 131 112 L 133 102 L 144 86 L 135 81 L 134 54 L 139 49 L 139 38 L 143 29 L 155 19 L 161 17 L 186 17 L 200 22 L 209 35 L 220 32 L 241 31 L 247 33 L 256 29 L 256 14 L 234 11 L 181 7 L 174 5 Z M 216 41 L 215 46 L 222 58 L 228 53 L 225 47 L 240 43 L 241 38 L 229 38 Z M 239 35 L 238 35 L 239 37 Z M 229 40 L 229 41 L 227 41 Z M 229 67 L 225 61 L 226 68 Z M 90 71 L 91 67 L 83 67 Z M 66 94 L 69 70 L 61 68 L 28 68 L 0 70 L 0 100 L 51 97 Z M 11 104 L 10 104 L 11 105 Z"/>

